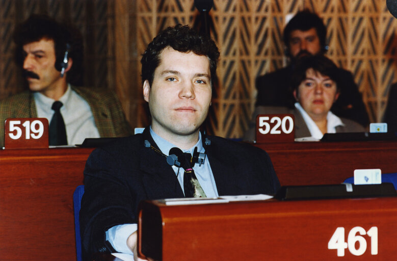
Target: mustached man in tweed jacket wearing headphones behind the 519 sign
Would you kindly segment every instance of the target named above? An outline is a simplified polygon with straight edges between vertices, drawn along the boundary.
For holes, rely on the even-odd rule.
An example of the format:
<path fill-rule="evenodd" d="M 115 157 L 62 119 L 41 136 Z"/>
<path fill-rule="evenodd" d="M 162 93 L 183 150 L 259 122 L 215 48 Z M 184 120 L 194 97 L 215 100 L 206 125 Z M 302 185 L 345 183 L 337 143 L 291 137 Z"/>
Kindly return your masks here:
<path fill-rule="evenodd" d="M 132 134 L 113 92 L 76 86 L 82 82 L 80 32 L 46 15 L 32 15 L 16 27 L 14 42 L 16 63 L 29 90 L 0 101 L 0 147 L 4 145 L 7 118 L 47 118 L 49 145 Z M 63 137 L 51 144 L 51 135 L 56 132 L 51 120 L 57 113 L 62 117 Z"/>

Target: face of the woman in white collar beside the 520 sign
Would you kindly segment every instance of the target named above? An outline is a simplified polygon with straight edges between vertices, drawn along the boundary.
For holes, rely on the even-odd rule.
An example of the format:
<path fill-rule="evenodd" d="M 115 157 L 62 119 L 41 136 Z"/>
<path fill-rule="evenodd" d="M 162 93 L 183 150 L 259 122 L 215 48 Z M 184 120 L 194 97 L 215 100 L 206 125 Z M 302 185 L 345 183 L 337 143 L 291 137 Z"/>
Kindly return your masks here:
<path fill-rule="evenodd" d="M 308 69 L 306 79 L 294 91 L 294 96 L 312 119 L 327 116 L 338 98 L 336 83 L 326 75 Z"/>

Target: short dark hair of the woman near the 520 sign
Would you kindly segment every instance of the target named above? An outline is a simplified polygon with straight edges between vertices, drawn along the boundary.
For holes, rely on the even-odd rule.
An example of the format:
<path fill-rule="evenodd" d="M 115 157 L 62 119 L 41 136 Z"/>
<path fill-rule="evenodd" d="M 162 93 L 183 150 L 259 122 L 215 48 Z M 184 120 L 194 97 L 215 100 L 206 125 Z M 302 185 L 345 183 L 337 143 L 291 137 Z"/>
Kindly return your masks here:
<path fill-rule="evenodd" d="M 324 76 L 330 77 L 336 83 L 337 91 L 339 91 L 338 83 L 341 80 L 339 79 L 339 69 L 334 62 L 324 55 L 304 56 L 298 59 L 290 80 L 292 91 L 297 90 L 303 80 L 306 79 L 308 69 L 313 69 Z"/>

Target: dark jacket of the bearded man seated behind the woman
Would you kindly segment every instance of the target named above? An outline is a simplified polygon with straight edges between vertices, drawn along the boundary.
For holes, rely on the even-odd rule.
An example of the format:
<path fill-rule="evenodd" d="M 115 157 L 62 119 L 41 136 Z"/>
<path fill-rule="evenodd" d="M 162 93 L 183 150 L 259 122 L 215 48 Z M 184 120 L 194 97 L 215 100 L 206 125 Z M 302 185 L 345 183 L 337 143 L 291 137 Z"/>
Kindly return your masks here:
<path fill-rule="evenodd" d="M 289 65 L 256 79 L 258 90 L 255 106 L 281 106 L 294 109 L 296 102 L 290 90 L 290 75 L 293 67 Z M 340 95 L 331 111 L 338 117 L 351 119 L 366 127 L 369 124 L 368 113 L 362 101 L 361 93 L 350 71 L 339 68 L 339 81 L 336 83 Z"/>

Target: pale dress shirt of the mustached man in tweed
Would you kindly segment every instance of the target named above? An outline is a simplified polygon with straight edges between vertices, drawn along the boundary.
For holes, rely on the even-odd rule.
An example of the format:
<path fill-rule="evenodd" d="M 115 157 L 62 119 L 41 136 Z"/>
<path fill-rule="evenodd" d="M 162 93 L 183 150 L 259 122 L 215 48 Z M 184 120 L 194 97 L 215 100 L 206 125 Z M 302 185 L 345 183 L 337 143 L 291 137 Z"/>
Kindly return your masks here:
<path fill-rule="evenodd" d="M 33 94 L 37 116 L 47 118 L 51 122 L 54 110 L 51 109 L 54 99 L 39 92 Z M 61 114 L 66 126 L 68 144 L 82 144 L 85 138 L 99 138 L 98 128 L 95 125 L 94 116 L 88 102 L 78 95 L 68 85 L 66 92 L 59 99 L 63 103 Z"/>

